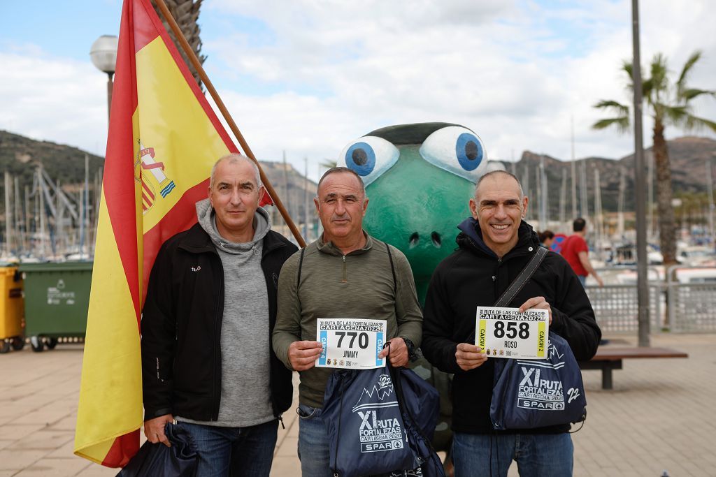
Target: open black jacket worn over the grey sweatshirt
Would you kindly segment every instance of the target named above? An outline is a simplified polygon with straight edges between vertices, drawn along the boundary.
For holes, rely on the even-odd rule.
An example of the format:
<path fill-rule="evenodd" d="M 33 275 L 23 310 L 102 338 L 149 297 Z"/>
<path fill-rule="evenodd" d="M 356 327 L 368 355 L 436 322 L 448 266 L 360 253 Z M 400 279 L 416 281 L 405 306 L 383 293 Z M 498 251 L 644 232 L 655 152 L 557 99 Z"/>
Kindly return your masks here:
<path fill-rule="evenodd" d="M 296 245 L 269 230 L 261 268 L 269 294 L 269 340 L 276 324 L 281 266 Z M 152 268 L 142 310 L 145 420 L 164 414 L 216 421 L 221 400 L 221 258 L 199 224 L 164 242 Z M 271 403 L 278 417 L 291 405 L 291 371 L 271 348 Z"/>

